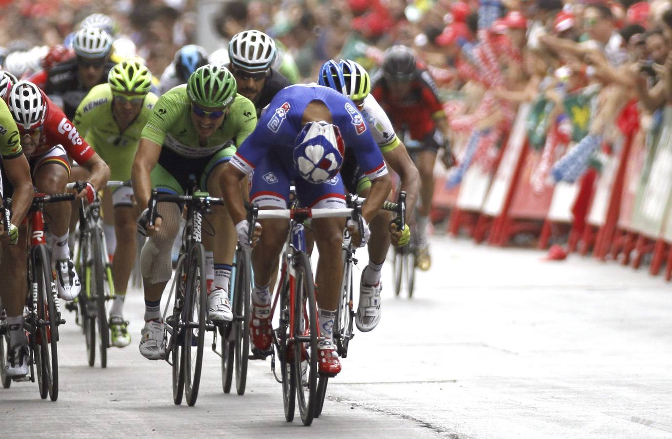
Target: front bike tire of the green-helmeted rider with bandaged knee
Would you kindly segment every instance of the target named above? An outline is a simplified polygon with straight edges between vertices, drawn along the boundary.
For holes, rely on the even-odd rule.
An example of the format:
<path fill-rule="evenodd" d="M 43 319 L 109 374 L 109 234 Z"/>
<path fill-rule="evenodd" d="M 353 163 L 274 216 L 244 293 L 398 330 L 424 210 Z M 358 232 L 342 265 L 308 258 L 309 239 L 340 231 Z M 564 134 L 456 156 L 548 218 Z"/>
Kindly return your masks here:
<path fill-rule="evenodd" d="M 203 348 L 206 332 L 206 318 L 208 312 L 208 290 L 206 286 L 206 254 L 203 244 L 197 242 L 189 254 L 187 275 L 187 289 L 184 299 L 183 323 L 198 323 L 198 334 L 194 340 L 194 330 L 185 328 L 182 358 L 184 362 L 184 393 L 188 405 L 196 404 L 198 387 L 201 380 L 203 365 Z M 194 312 L 198 315 L 198 322 L 193 322 Z M 193 343 L 192 343 L 193 340 Z M 196 351 L 192 352 L 192 344 Z M 193 370 L 192 370 L 193 368 Z"/>

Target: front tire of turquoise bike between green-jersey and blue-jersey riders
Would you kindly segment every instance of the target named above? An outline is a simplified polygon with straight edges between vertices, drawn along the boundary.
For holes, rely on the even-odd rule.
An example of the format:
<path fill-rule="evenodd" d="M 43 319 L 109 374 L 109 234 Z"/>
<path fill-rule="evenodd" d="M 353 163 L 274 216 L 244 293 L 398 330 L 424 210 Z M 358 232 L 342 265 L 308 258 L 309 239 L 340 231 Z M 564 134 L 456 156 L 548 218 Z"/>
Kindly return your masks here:
<path fill-rule="evenodd" d="M 241 283 L 237 284 L 235 295 L 233 297 L 234 309 L 234 334 L 235 334 L 235 372 L 236 372 L 236 393 L 245 394 L 245 385 L 247 383 L 247 361 L 250 352 L 250 294 L 252 283 L 251 261 L 248 254 L 243 249 L 239 249 L 239 259 L 242 261 L 240 266 Z M 238 274 L 237 274 L 238 275 Z"/>

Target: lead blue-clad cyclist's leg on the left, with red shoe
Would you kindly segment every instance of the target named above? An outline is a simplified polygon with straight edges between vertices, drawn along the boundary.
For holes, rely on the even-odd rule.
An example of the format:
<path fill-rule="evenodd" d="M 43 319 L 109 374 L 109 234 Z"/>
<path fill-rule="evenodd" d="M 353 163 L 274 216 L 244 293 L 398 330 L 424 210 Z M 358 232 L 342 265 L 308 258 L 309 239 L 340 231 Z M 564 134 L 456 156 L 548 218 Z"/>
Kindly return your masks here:
<path fill-rule="evenodd" d="M 264 158 L 251 178 L 250 202 L 259 209 L 286 209 L 290 180 L 281 166 Z M 250 338 L 254 346 L 267 350 L 271 346 L 271 293 L 269 283 L 279 263 L 280 252 L 287 238 L 288 222 L 261 219 L 261 237 L 252 251 L 254 288 L 252 290 L 252 318 Z"/>

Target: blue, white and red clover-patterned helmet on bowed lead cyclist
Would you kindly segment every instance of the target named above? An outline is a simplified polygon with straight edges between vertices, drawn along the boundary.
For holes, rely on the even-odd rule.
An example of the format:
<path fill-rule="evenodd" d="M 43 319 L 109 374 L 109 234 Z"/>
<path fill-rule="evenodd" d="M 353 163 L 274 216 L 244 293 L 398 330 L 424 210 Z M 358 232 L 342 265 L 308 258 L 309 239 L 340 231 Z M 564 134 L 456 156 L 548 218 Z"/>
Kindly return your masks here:
<path fill-rule="evenodd" d="M 308 122 L 295 144 L 294 166 L 304 180 L 317 185 L 336 177 L 345 154 L 337 126 L 325 121 Z"/>

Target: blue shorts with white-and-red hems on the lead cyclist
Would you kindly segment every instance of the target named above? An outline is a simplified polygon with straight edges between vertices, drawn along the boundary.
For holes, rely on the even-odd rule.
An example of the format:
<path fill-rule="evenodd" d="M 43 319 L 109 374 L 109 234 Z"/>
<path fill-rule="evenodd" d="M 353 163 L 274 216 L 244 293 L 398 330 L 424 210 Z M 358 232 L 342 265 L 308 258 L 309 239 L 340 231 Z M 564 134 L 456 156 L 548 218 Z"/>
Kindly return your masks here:
<path fill-rule="evenodd" d="M 266 156 L 250 177 L 250 201 L 259 207 L 272 206 L 287 209 L 291 177 L 277 160 Z M 300 207 L 341 209 L 345 205 L 345 189 L 341 176 L 314 185 L 301 177 L 294 179 Z"/>

